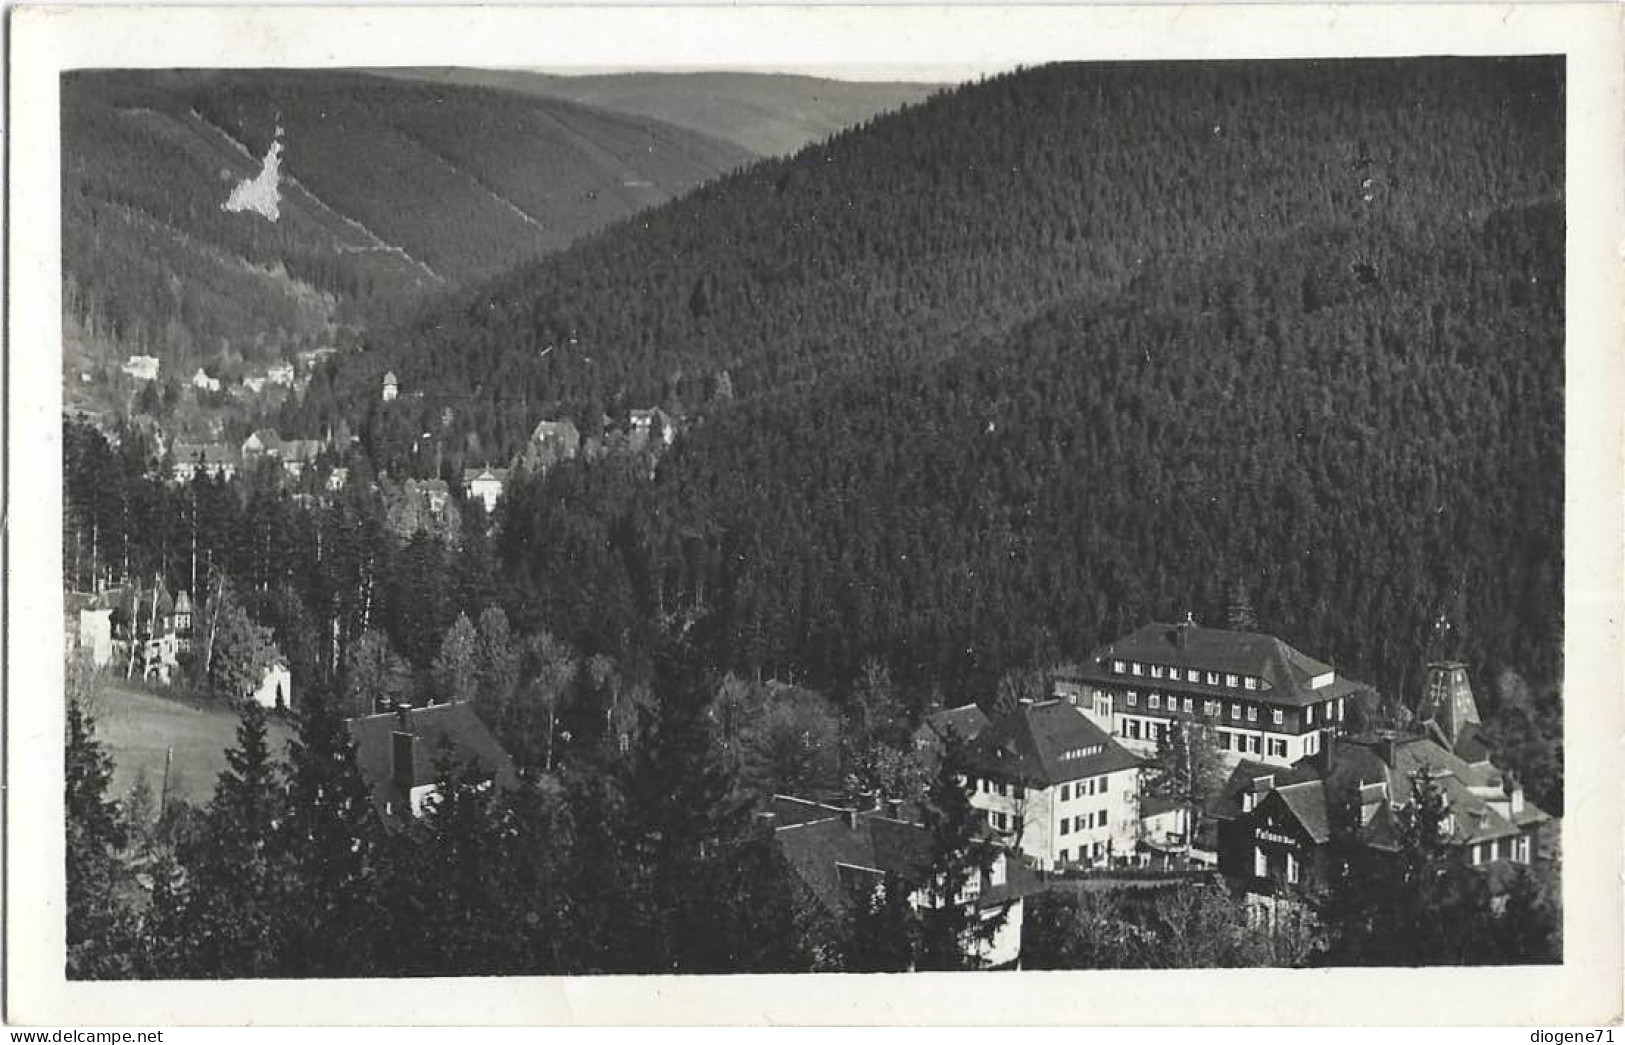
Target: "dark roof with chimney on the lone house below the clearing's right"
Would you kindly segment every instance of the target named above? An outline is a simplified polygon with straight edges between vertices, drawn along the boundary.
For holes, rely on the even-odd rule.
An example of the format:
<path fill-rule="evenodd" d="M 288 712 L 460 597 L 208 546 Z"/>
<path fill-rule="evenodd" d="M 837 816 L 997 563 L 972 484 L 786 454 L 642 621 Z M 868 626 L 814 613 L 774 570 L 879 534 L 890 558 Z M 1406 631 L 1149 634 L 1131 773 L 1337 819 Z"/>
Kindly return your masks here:
<path fill-rule="evenodd" d="M 517 780 L 514 759 L 509 757 L 486 723 L 468 702 L 436 704 L 403 712 L 385 712 L 349 720 L 349 739 L 356 744 L 356 767 L 372 790 L 379 813 L 393 804 L 405 808 L 406 790 L 393 778 L 395 733 L 416 736 L 413 749 L 411 787 L 436 782 L 436 762 L 440 757 L 440 741 L 452 743 L 453 757 L 473 762 L 481 775 L 489 775 L 499 788 Z"/>

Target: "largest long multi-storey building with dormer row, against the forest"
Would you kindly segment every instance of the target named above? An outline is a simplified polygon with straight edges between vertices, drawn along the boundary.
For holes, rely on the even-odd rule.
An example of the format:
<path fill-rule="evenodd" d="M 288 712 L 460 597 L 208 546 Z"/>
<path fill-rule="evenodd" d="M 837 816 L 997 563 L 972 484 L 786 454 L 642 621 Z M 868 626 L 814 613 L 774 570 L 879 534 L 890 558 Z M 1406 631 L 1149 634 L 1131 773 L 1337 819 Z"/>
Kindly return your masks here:
<path fill-rule="evenodd" d="M 1370 692 L 1274 635 L 1146 624 L 1056 676 L 1056 696 L 1131 751 L 1150 754 L 1173 722 L 1214 728 L 1220 754 L 1292 765 L 1342 730 Z"/>

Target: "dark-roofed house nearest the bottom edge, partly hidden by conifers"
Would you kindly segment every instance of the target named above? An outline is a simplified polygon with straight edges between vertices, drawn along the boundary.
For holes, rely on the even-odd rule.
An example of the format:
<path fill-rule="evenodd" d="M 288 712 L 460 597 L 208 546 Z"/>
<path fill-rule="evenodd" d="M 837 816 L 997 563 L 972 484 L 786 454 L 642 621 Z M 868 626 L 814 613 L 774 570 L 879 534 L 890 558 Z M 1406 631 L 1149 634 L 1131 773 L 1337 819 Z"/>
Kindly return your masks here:
<path fill-rule="evenodd" d="M 913 910 L 941 902 L 925 881 L 931 832 L 904 819 L 897 803 L 884 809 L 847 809 L 775 795 L 765 819 L 798 887 L 834 918 L 848 918 L 856 904 L 884 891 L 889 881 L 910 889 Z M 973 908 L 982 921 L 1003 918 L 990 941 L 967 941 L 983 967 L 1009 967 L 1020 957 L 1022 895 L 1034 887 L 1030 873 L 994 847 L 988 871 L 972 876 L 954 897 L 956 905 Z"/>

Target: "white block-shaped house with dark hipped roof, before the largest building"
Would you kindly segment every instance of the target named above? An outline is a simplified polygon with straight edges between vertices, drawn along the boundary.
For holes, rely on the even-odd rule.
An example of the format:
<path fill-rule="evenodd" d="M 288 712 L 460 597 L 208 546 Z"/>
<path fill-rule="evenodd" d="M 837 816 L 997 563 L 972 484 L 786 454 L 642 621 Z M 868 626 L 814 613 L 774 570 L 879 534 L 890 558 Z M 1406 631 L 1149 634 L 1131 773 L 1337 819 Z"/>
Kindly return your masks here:
<path fill-rule="evenodd" d="M 1136 858 L 1141 762 L 1066 700 L 1022 700 L 964 749 L 970 803 L 1038 869 Z"/>

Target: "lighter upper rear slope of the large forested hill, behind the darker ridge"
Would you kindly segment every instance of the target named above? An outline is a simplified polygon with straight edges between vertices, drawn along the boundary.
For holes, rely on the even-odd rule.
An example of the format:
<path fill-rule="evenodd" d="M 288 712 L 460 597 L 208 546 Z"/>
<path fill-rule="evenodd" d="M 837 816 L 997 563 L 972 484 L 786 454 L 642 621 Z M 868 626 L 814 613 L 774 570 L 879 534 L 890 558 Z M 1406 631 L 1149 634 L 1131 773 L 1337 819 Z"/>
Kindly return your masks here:
<path fill-rule="evenodd" d="M 325 423 L 393 367 L 515 449 L 543 411 L 726 369 L 759 395 L 946 358 L 1181 258 L 1370 221 L 1409 234 L 1562 190 L 1550 62 L 1045 67 L 762 163 L 379 338 L 315 387 Z M 546 351 L 556 346 L 557 351 Z M 502 374 L 504 380 L 489 380 Z M 354 423 L 354 418 L 353 418 Z"/>

